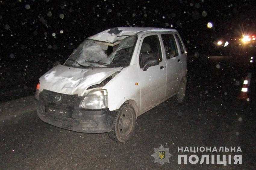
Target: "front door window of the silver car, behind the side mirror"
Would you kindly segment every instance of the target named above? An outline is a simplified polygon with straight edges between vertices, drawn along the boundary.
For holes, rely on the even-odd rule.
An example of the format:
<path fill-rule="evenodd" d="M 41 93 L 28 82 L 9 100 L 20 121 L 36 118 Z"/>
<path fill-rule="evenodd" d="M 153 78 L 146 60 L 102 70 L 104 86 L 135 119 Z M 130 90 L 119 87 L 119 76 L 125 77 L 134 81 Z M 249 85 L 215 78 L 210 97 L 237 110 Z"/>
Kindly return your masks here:
<path fill-rule="evenodd" d="M 139 65 L 141 68 L 153 60 L 158 61 L 158 63 L 162 61 L 161 46 L 157 35 L 145 37 L 139 53 Z"/>

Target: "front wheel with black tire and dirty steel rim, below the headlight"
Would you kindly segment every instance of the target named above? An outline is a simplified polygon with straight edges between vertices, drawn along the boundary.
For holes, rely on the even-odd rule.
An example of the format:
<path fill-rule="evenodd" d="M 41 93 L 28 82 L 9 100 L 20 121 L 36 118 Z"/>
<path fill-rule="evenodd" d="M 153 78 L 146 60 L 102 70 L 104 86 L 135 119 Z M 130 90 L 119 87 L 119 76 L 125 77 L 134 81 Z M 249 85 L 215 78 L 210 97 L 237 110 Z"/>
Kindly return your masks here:
<path fill-rule="evenodd" d="M 127 141 L 133 135 L 135 122 L 136 113 L 133 106 L 128 103 L 123 104 L 117 111 L 108 136 L 117 142 Z"/>

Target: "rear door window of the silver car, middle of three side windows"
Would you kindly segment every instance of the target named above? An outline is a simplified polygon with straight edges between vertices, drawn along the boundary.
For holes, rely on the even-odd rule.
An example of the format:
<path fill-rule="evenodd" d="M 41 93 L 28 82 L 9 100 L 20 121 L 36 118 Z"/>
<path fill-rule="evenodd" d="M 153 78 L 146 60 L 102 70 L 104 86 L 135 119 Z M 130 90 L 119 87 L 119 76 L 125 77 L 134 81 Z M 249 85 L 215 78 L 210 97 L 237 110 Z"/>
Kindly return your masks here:
<path fill-rule="evenodd" d="M 179 55 L 173 34 L 162 34 L 161 37 L 164 43 L 166 58 L 169 59 Z"/>

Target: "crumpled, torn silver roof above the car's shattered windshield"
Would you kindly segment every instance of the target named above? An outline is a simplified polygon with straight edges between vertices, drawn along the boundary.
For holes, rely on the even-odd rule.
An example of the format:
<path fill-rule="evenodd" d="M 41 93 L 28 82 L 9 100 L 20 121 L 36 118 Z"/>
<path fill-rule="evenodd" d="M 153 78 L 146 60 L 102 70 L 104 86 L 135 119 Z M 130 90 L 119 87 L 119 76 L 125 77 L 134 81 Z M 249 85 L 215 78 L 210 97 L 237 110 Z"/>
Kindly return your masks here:
<path fill-rule="evenodd" d="M 153 28 L 153 27 L 115 27 L 92 35 L 89 39 L 114 44 L 127 36 L 135 35 L 142 31 L 176 31 L 175 29 Z"/>

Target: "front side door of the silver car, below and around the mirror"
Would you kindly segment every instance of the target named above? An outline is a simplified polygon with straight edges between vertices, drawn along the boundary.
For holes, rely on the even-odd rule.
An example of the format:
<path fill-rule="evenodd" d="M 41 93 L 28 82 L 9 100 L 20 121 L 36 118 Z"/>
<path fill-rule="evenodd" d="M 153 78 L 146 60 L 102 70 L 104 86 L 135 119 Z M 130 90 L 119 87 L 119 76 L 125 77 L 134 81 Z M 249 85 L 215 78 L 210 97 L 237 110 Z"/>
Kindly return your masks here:
<path fill-rule="evenodd" d="M 161 103 L 166 92 L 166 62 L 162 57 L 161 44 L 158 34 L 150 33 L 142 36 L 139 47 L 139 86 L 141 112 Z M 150 65 L 154 60 L 155 64 Z"/>

